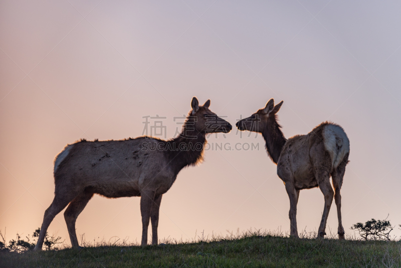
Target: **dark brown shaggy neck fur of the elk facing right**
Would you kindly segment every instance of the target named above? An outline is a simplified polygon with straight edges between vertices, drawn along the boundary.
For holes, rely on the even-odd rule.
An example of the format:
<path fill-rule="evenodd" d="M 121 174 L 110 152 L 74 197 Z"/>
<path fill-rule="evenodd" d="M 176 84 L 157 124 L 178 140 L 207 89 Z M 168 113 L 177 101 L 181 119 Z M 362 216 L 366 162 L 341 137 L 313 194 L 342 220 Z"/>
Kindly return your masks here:
<path fill-rule="evenodd" d="M 187 117 L 180 135 L 166 142 L 175 151 L 167 150 L 169 166 L 175 174 L 186 166 L 193 166 L 203 160 L 207 143 L 206 133 L 194 129 L 193 119 Z"/>

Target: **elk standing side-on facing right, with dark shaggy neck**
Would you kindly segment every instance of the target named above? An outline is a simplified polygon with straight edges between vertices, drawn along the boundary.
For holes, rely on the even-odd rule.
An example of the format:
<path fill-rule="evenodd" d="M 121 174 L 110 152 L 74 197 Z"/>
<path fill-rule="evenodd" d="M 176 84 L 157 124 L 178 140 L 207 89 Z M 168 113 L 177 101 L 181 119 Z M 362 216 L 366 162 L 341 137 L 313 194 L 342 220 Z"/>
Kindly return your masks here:
<path fill-rule="evenodd" d="M 141 245 L 147 245 L 149 218 L 152 244 L 157 244 L 162 195 L 181 169 L 202 162 L 207 133 L 232 129 L 209 106 L 210 100 L 199 106 L 193 97 L 180 135 L 167 141 L 144 136 L 120 141 L 81 140 L 67 145 L 54 161 L 55 196 L 45 211 L 35 250 L 42 249 L 50 223 L 67 205 L 64 218 L 72 247 L 78 248 L 75 222 L 94 194 L 108 198 L 140 196 Z"/>

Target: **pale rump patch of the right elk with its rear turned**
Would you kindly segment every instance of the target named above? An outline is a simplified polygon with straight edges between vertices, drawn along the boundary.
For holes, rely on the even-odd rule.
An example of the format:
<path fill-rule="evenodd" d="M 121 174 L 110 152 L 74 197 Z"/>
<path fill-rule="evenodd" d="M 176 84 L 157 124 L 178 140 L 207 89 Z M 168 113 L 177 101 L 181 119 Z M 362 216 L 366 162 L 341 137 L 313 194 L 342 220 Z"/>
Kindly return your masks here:
<path fill-rule="evenodd" d="M 327 124 L 323 129 L 324 147 L 330 153 L 333 169 L 340 165 L 349 153 L 349 140 L 341 126 Z"/>

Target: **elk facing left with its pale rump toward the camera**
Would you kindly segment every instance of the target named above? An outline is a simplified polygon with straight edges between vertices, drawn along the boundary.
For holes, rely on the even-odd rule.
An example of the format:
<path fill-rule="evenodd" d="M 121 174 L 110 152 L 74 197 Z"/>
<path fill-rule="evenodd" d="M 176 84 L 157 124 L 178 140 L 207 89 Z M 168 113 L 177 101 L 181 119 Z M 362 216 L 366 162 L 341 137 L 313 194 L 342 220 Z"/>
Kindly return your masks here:
<path fill-rule="evenodd" d="M 340 189 L 348 163 L 349 140 L 338 124 L 323 122 L 307 135 L 286 139 L 277 122 L 276 113 L 283 101 L 274 106 L 270 99 L 265 108 L 236 123 L 239 130 L 259 132 L 266 141 L 266 150 L 277 165 L 277 175 L 284 182 L 290 198 L 290 235 L 298 237 L 297 203 L 299 191 L 319 187 L 324 195 L 324 210 L 318 237 L 323 237 L 333 196 L 337 206 L 338 238 L 344 239 L 341 223 Z M 334 191 L 330 185 L 330 176 Z"/>

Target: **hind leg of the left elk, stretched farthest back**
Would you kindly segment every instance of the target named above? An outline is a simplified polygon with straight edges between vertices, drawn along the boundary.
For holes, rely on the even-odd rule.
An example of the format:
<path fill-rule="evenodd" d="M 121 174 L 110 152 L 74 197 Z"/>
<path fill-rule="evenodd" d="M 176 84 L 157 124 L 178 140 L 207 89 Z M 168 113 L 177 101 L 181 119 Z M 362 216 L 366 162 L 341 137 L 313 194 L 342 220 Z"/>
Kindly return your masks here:
<path fill-rule="evenodd" d="M 45 240 L 47 229 L 49 228 L 50 223 L 53 221 L 54 217 L 60 213 L 72 200 L 67 197 L 60 197 L 60 195 L 55 195 L 52 204 L 45 211 L 45 215 L 43 216 L 43 223 L 41 227 L 41 232 L 39 233 L 38 241 L 36 242 L 34 251 L 42 250 L 43 241 Z"/>

